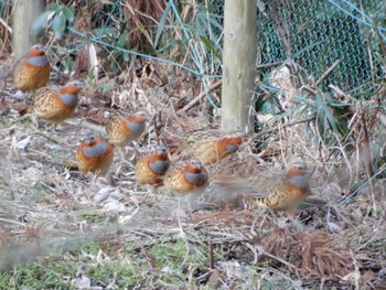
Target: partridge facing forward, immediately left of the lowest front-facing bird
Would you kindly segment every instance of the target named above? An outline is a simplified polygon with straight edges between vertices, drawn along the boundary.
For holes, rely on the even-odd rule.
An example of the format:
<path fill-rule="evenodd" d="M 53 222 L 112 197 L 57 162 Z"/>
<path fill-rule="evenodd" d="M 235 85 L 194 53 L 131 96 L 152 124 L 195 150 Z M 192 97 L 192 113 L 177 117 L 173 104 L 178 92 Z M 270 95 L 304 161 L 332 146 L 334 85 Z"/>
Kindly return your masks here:
<path fill-rule="evenodd" d="M 163 184 L 163 176 L 169 165 L 168 148 L 163 144 L 157 146 L 151 154 L 143 155 L 138 160 L 135 170 L 137 182 L 159 187 Z"/>

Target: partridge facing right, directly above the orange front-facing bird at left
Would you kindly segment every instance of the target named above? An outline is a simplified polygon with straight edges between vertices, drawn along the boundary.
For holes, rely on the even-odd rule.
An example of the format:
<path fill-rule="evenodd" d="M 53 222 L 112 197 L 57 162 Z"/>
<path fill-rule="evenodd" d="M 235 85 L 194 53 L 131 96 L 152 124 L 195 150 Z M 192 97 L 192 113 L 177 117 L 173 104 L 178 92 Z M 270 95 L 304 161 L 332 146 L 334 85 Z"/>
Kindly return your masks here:
<path fill-rule="evenodd" d="M 133 115 L 121 116 L 112 114 L 106 125 L 109 140 L 117 147 L 125 147 L 144 132 L 146 121 L 150 119 L 147 110 L 139 110 Z"/>

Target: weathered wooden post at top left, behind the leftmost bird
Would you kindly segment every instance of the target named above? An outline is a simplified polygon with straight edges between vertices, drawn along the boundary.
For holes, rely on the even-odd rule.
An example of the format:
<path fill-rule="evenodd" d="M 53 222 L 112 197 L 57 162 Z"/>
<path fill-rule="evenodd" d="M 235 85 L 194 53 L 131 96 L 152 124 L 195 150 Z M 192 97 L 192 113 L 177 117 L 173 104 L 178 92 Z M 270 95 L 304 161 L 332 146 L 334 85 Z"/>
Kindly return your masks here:
<path fill-rule="evenodd" d="M 15 60 L 26 53 L 37 42 L 36 35 L 31 35 L 33 21 L 44 12 L 45 0 L 13 0 L 13 53 Z"/>

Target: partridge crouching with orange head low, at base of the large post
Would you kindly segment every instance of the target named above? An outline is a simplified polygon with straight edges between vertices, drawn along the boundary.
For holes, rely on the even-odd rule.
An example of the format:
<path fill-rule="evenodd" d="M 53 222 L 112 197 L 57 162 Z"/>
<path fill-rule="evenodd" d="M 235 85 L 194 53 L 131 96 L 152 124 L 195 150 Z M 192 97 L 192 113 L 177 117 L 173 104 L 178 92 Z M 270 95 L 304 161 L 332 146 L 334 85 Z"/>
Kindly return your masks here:
<path fill-rule="evenodd" d="M 225 133 L 211 129 L 192 133 L 180 148 L 189 158 L 197 158 L 203 164 L 210 165 L 236 153 L 246 140 L 245 133 Z"/>

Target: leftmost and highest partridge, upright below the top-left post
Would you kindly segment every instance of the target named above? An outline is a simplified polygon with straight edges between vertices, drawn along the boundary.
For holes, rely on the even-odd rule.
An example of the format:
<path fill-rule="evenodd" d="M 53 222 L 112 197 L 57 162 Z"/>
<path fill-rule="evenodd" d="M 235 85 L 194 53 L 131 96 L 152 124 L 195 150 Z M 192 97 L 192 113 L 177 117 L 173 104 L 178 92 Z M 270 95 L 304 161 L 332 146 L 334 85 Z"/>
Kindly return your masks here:
<path fill-rule="evenodd" d="M 42 44 L 33 45 L 19 60 L 13 69 L 13 83 L 21 92 L 31 92 L 44 87 L 50 79 L 51 65 Z"/>

